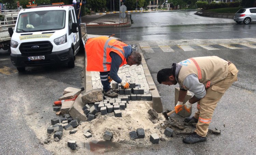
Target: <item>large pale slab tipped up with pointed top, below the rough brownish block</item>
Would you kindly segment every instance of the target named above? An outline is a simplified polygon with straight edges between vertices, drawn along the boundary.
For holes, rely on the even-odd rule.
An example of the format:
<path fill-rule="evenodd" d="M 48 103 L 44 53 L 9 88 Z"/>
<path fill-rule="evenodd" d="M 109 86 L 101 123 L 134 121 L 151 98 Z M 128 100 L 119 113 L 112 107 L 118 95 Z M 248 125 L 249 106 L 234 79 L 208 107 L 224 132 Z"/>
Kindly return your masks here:
<path fill-rule="evenodd" d="M 73 119 L 76 119 L 78 122 L 86 121 L 87 120 L 87 118 L 86 118 L 86 116 L 84 114 L 84 110 L 82 109 L 84 107 L 84 103 L 82 102 L 82 98 L 81 97 L 82 97 L 82 94 L 80 94 L 76 98 L 73 106 L 69 110 L 70 116 Z"/>

